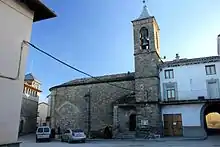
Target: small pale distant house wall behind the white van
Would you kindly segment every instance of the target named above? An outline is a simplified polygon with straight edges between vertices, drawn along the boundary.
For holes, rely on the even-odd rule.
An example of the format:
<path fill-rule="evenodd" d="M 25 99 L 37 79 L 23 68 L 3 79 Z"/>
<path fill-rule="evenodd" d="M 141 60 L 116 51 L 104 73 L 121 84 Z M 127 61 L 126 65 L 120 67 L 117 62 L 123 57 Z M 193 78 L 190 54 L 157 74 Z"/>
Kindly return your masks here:
<path fill-rule="evenodd" d="M 46 103 L 40 103 L 38 105 L 38 115 L 37 118 L 38 125 L 43 125 L 43 123 L 46 123 L 46 118 L 48 114 L 48 104 Z"/>

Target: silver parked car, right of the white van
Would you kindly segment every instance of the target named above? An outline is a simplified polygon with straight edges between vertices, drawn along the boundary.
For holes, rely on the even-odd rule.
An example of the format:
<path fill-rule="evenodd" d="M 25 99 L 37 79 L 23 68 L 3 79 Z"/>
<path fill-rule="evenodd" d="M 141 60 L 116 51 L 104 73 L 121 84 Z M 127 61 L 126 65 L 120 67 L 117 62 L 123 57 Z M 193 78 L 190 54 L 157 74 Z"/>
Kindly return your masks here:
<path fill-rule="evenodd" d="M 61 142 L 83 142 L 86 141 L 86 135 L 82 129 L 67 129 L 64 131 L 64 133 L 61 135 Z"/>

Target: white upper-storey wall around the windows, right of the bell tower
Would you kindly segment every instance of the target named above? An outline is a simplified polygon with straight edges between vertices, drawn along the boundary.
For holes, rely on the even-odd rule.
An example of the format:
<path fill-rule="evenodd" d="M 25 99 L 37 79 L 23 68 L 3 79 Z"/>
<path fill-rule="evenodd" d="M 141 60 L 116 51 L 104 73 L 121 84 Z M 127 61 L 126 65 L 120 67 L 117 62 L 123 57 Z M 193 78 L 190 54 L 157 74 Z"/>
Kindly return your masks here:
<path fill-rule="evenodd" d="M 206 75 L 205 65 L 213 64 L 216 67 L 216 74 Z M 174 70 L 173 79 L 165 79 L 164 70 L 166 69 Z M 163 83 L 177 82 L 179 100 L 197 99 L 198 96 L 207 98 L 206 80 L 211 78 L 219 79 L 219 77 L 220 62 L 163 68 L 160 72 L 161 97 L 164 99 Z"/>

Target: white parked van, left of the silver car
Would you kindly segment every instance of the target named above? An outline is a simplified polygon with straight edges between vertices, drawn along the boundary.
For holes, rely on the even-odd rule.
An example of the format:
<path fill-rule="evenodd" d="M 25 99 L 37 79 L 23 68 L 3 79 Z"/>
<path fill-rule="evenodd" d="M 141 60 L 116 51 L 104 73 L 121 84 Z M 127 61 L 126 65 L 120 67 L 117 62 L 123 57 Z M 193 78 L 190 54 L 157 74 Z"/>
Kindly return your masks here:
<path fill-rule="evenodd" d="M 50 141 L 51 129 L 48 126 L 41 126 L 36 131 L 36 142 L 47 140 Z"/>

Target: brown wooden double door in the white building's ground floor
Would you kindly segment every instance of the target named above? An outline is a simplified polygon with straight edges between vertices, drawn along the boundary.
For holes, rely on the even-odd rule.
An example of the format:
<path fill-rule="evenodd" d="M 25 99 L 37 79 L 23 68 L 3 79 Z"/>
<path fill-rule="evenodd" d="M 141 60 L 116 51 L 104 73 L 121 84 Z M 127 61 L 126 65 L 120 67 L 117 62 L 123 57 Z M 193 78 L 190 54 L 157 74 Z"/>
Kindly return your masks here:
<path fill-rule="evenodd" d="M 182 136 L 181 114 L 164 114 L 164 136 Z"/>

